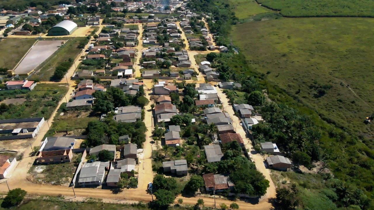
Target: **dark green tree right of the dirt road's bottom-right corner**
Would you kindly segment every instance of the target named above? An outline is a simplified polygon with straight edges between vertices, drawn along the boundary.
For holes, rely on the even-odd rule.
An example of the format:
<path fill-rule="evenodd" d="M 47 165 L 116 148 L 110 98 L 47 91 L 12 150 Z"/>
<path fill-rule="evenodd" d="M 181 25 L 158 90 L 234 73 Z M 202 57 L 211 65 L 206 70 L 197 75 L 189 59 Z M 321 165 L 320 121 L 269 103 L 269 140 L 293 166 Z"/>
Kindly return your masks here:
<path fill-rule="evenodd" d="M 286 188 L 277 188 L 276 189 L 276 206 L 280 210 L 289 210 L 295 209 L 298 205 L 297 191 L 293 188 L 294 191 Z"/>

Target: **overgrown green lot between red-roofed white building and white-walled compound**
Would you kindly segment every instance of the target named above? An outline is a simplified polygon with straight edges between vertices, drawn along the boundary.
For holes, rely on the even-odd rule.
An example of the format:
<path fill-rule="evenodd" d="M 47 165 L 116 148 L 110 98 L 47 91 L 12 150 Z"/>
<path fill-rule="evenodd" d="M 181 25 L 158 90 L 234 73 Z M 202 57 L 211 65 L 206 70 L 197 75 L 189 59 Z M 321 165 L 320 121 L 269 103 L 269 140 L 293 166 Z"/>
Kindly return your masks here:
<path fill-rule="evenodd" d="M 0 112 L 0 119 L 44 117 L 49 118 L 56 108 L 58 101 L 64 96 L 68 88 L 64 85 L 37 84 L 34 90 L 4 90 L 0 92 L 0 99 L 26 100 L 22 104 L 5 106 Z M 9 101 L 9 100 L 7 100 Z M 1 104 L 1 101 L 0 101 Z M 8 104 L 8 102 L 7 102 Z"/>

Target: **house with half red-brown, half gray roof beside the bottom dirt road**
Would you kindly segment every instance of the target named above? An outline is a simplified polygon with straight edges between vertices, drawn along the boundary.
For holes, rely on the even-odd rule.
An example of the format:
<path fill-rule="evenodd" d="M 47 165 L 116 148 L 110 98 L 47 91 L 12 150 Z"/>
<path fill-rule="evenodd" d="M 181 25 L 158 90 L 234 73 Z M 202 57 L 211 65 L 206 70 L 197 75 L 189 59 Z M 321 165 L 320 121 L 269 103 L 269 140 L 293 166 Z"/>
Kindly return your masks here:
<path fill-rule="evenodd" d="M 226 189 L 232 190 L 234 188 L 234 183 L 229 179 L 229 176 L 223 174 L 213 174 L 207 173 L 203 175 L 205 182 L 206 191 L 221 192 Z"/>

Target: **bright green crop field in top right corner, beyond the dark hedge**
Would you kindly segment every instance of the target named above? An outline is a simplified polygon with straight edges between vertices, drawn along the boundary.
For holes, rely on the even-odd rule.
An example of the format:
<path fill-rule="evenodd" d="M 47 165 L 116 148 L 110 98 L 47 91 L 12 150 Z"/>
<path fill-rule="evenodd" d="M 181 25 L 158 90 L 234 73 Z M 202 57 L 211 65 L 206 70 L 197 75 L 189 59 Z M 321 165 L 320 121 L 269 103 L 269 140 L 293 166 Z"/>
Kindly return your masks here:
<path fill-rule="evenodd" d="M 373 17 L 373 0 L 258 0 L 288 17 Z"/>

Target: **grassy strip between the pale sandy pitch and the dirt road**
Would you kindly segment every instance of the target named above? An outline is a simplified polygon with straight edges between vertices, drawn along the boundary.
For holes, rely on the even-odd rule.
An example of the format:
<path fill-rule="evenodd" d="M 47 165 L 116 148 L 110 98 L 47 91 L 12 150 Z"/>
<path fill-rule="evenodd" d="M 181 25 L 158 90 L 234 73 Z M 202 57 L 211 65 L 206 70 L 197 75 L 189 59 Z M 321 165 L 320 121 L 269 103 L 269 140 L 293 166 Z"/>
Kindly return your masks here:
<path fill-rule="evenodd" d="M 77 48 L 79 42 L 86 37 L 70 38 L 63 46 L 61 46 L 52 56 L 36 68 L 30 79 L 49 80 L 53 75 L 55 68 L 69 58 L 75 59 L 81 49 Z"/>

